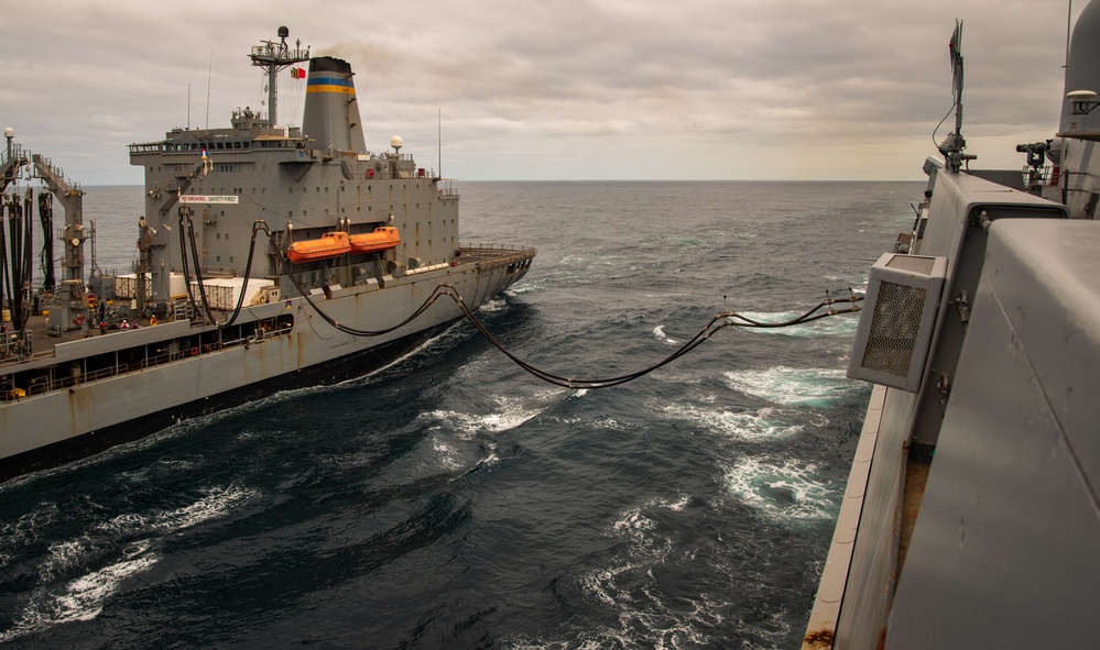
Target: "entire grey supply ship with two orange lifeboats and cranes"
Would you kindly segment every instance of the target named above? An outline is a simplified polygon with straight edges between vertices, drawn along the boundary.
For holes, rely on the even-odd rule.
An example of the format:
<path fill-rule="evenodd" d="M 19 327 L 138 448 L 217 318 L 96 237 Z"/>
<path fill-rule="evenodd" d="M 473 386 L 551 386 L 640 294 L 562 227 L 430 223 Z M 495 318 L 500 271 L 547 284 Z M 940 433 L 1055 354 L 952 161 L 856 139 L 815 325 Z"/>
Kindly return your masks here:
<path fill-rule="evenodd" d="M 451 183 L 417 167 L 397 136 L 369 152 L 350 64 L 287 36 L 280 27 L 250 54 L 268 114 L 238 109 L 229 128 L 130 145 L 145 177 L 133 273 L 86 279 L 83 191 L 6 133 L 4 189 L 41 178 L 43 224 L 52 197 L 65 223 L 44 225 L 64 247 L 59 282 L 51 262 L 32 288 L 34 201 L 6 201 L 0 480 L 366 374 L 526 273 L 533 249 L 462 246 Z M 277 120 L 287 68 L 307 84 L 301 128 Z"/>

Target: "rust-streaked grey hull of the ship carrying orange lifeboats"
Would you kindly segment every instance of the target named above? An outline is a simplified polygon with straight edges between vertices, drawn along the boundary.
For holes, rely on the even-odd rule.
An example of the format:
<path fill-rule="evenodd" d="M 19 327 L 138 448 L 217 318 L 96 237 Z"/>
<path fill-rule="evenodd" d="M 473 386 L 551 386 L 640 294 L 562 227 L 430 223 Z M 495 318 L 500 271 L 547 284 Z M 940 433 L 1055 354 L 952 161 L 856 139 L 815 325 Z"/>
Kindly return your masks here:
<path fill-rule="evenodd" d="M 530 260 L 530 254 L 519 257 Z M 464 264 L 417 276 L 388 278 L 384 288 L 336 288 L 330 298 L 312 296 L 341 326 L 382 330 L 402 322 L 440 284 L 458 291 L 471 308 L 520 279 L 526 264 Z M 181 421 L 261 399 L 279 390 L 326 385 L 375 371 L 459 320 L 449 297 L 421 317 L 377 337 L 338 331 L 303 297 L 253 307 L 255 320 L 293 318 L 282 331 L 215 349 L 189 350 L 176 361 L 80 382 L 18 401 L 0 404 L 0 481 L 79 460 L 144 438 Z M 239 319 L 242 320 L 242 319 Z M 185 323 L 163 327 L 176 339 Z M 195 330 L 196 328 L 192 328 Z M 206 331 L 211 328 L 207 326 Z M 141 330 L 148 337 L 151 328 Z M 142 334 L 138 334 L 142 335 Z M 118 333 L 110 337 L 137 337 Z M 90 339 L 83 344 L 101 341 Z M 79 362 L 79 359 L 76 360 Z"/>

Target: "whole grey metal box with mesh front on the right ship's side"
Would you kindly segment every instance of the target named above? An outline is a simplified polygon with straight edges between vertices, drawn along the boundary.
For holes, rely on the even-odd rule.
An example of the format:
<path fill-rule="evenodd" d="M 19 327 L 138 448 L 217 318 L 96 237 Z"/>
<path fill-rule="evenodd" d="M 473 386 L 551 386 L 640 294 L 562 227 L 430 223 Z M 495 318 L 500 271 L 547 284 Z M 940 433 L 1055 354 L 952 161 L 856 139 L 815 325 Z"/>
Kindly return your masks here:
<path fill-rule="evenodd" d="M 848 376 L 916 393 L 932 344 L 945 257 L 886 253 L 871 267 Z"/>

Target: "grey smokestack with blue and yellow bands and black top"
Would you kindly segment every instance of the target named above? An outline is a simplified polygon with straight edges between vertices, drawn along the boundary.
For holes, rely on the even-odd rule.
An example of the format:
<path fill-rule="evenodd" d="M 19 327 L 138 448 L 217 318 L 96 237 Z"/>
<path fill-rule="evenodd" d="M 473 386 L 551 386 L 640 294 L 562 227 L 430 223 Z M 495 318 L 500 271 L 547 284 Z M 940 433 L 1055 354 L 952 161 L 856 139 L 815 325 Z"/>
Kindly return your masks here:
<path fill-rule="evenodd" d="M 353 76 L 346 60 L 331 56 L 309 59 L 302 133 L 316 140 L 319 150 L 367 151 Z"/>

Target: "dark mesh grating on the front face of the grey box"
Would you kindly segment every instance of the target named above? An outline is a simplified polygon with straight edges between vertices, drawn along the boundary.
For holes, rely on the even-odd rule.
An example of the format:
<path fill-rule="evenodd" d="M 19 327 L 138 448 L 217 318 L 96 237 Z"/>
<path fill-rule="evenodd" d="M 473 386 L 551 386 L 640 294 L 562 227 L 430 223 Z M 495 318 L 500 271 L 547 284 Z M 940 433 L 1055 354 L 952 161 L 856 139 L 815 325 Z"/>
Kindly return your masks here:
<path fill-rule="evenodd" d="M 863 368 L 895 377 L 910 374 L 927 290 L 893 283 L 879 285 L 871 330 L 863 348 Z"/>

